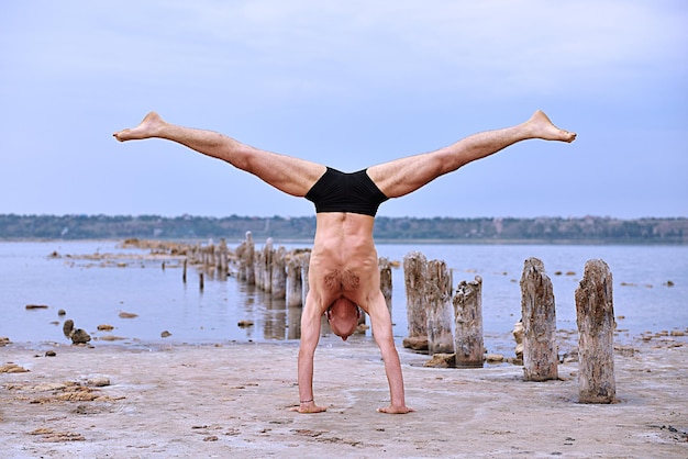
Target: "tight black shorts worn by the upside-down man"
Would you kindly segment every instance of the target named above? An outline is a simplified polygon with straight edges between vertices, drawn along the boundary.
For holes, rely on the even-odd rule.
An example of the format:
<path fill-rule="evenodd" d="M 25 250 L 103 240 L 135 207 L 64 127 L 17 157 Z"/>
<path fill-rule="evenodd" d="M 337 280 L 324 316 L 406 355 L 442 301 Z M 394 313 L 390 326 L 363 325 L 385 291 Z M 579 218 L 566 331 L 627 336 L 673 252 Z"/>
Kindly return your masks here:
<path fill-rule="evenodd" d="M 375 216 L 378 206 L 388 198 L 366 170 L 342 172 L 329 167 L 306 199 L 315 204 L 317 213 L 349 212 Z"/>

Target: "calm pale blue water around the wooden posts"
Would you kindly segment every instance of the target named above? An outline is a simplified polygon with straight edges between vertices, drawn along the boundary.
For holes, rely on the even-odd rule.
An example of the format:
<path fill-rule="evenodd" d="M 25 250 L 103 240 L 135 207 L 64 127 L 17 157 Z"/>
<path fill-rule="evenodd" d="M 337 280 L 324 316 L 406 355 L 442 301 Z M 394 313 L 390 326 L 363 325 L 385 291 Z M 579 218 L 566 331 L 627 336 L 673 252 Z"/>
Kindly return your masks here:
<path fill-rule="evenodd" d="M 277 242 L 276 247 L 279 246 Z M 285 245 L 287 248 L 304 245 Z M 614 312 L 619 339 L 632 339 L 651 331 L 688 327 L 688 247 L 685 246 L 520 246 L 382 244 L 378 254 L 402 261 L 418 250 L 428 259 L 441 259 L 453 269 L 454 284 L 482 277 L 482 312 L 486 347 L 490 351 L 513 348 L 511 329 L 520 318 L 519 280 L 523 260 L 537 257 L 553 281 L 559 328 L 576 329 L 574 292 L 586 260 L 601 258 L 614 279 Z M 60 257 L 51 257 L 56 251 Z M 119 259 L 86 259 L 92 254 L 116 254 Z M 206 278 L 201 292 L 198 272 L 188 282 L 176 261 L 142 259 L 147 251 L 123 249 L 116 242 L 0 243 L 0 336 L 14 343 L 69 343 L 62 332 L 65 318 L 75 321 L 95 338 L 116 335 L 125 344 L 222 343 L 228 340 L 298 339 L 300 309 L 287 309 L 245 284 Z M 71 255 L 68 257 L 67 255 Z M 555 276 L 556 271 L 563 275 Z M 575 275 L 567 276 L 573 271 Z M 674 287 L 668 287 L 672 281 Z M 407 335 L 403 270 L 392 271 L 395 335 Z M 47 310 L 26 311 L 26 304 Z M 58 317 L 57 311 L 67 315 Z M 120 318 L 120 312 L 138 314 Z M 241 328 L 240 321 L 254 326 Z M 97 331 L 100 324 L 115 328 Z M 326 326 L 326 325 L 325 325 Z M 163 339 L 160 333 L 171 336 Z M 358 337 L 356 339 L 369 339 Z M 95 340 L 95 345 L 106 345 Z"/>

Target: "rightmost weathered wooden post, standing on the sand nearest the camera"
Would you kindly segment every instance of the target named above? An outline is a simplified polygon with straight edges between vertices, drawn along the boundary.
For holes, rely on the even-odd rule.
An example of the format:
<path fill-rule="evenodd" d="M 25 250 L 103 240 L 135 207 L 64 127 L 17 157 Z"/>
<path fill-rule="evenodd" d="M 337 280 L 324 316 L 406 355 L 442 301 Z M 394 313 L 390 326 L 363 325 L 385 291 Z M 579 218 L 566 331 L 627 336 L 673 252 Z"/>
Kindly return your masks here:
<path fill-rule="evenodd" d="M 580 403 L 613 403 L 614 301 L 612 277 L 603 260 L 588 260 L 576 289 L 578 398 Z"/>

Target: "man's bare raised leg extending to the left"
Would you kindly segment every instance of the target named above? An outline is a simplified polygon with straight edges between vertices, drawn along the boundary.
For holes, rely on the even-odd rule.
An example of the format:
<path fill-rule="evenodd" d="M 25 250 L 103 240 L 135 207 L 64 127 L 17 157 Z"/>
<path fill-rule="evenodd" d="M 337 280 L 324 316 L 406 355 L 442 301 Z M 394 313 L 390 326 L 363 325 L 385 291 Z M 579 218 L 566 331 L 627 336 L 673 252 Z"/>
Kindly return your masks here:
<path fill-rule="evenodd" d="M 148 113 L 138 126 L 114 133 L 114 137 L 120 142 L 153 137 L 173 141 L 222 159 L 296 197 L 304 197 L 326 169 L 317 163 L 254 148 L 217 132 L 169 124 L 155 112 Z"/>

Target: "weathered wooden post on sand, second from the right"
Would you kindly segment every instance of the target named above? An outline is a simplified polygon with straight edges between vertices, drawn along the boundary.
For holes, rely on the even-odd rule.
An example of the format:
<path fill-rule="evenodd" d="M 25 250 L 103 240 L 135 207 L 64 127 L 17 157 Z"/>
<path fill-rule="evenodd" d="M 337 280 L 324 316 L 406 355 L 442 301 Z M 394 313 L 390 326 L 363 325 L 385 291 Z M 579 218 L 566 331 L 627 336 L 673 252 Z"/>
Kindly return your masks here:
<path fill-rule="evenodd" d="M 545 266 L 537 258 L 529 258 L 523 264 L 521 317 L 525 380 L 558 379 L 554 292 Z"/>

